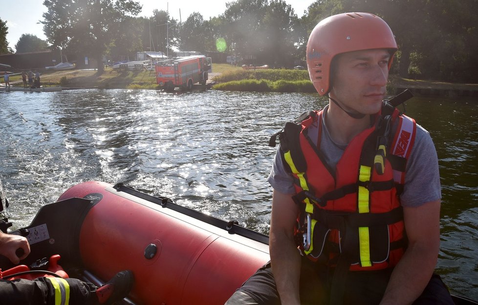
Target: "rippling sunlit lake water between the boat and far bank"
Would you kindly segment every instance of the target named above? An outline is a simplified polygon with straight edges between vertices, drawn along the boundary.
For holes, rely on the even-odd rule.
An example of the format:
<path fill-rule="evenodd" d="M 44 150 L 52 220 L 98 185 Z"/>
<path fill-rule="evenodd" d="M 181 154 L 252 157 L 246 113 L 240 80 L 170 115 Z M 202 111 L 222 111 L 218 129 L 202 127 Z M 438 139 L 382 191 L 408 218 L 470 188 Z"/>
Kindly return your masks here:
<path fill-rule="evenodd" d="M 478 299 L 478 101 L 413 98 L 407 115 L 430 131 L 442 183 L 437 271 Z M 271 134 L 317 94 L 83 90 L 0 93 L 0 179 L 14 228 L 88 180 L 124 182 L 267 234 Z"/>

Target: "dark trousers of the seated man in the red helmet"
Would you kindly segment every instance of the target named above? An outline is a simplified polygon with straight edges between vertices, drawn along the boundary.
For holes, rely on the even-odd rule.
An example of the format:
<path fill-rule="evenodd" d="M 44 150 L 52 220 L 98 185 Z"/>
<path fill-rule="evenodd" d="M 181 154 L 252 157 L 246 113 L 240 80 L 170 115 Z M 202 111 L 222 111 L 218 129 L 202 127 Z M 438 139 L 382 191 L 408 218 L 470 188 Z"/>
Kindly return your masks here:
<path fill-rule="evenodd" d="M 392 270 L 349 272 L 344 284 L 344 304 L 379 304 Z M 303 305 L 328 305 L 333 272 L 320 270 L 307 259 L 303 260 L 300 297 Z M 260 268 L 227 301 L 227 305 L 281 305 L 270 263 Z M 440 277 L 432 276 L 414 305 L 454 305 L 450 293 Z"/>

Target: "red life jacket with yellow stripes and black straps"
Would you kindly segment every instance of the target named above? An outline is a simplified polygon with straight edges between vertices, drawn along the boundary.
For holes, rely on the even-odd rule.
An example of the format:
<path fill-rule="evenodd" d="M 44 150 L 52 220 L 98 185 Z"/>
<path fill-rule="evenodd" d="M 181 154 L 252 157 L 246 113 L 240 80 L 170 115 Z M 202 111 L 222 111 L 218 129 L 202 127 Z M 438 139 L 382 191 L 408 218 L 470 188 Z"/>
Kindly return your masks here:
<path fill-rule="evenodd" d="M 322 111 L 308 113 L 299 124 L 286 123 L 280 135 L 282 160 L 294 177 L 293 199 L 301 210 L 296 238 L 311 260 L 337 266 L 342 259 L 351 271 L 377 270 L 396 265 L 403 255 L 399 193 L 416 124 L 396 108 L 384 110 L 348 144 L 335 171 L 318 147 Z M 317 145 L 307 136 L 313 123 L 319 126 Z"/>

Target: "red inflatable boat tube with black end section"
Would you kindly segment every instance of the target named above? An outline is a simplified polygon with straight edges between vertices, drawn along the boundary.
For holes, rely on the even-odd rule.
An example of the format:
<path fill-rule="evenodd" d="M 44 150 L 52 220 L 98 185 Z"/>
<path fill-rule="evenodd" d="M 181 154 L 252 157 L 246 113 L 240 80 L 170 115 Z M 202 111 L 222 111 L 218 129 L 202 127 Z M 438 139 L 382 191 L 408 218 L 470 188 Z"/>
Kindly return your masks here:
<path fill-rule="evenodd" d="M 28 234 L 31 254 L 22 263 L 33 268 L 60 255 L 69 277 L 97 285 L 132 270 L 127 303 L 138 305 L 224 304 L 269 260 L 266 235 L 122 184 L 69 188 L 16 233 Z M 11 267 L 4 259 L 0 266 Z"/>

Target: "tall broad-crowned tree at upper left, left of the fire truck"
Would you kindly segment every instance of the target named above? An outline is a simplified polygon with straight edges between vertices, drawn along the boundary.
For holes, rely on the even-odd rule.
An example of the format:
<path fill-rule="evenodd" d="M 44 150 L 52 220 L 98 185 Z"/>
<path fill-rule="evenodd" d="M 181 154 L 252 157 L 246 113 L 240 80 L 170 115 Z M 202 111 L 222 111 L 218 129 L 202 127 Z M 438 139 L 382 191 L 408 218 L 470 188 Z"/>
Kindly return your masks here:
<path fill-rule="evenodd" d="M 98 73 L 119 24 L 141 11 L 133 0 L 45 0 L 43 5 L 48 11 L 41 23 L 52 46 L 82 50 L 97 60 Z"/>

